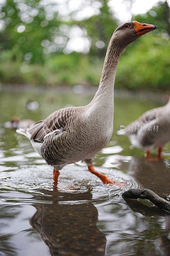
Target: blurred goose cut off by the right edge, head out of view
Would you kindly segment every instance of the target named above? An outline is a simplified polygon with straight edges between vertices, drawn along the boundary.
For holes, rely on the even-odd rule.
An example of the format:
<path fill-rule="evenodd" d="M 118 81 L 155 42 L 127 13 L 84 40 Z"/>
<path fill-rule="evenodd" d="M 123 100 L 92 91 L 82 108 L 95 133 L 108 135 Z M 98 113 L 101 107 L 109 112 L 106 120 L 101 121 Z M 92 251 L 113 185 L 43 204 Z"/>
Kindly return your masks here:
<path fill-rule="evenodd" d="M 127 135 L 134 147 L 144 148 L 150 160 L 150 151 L 158 148 L 157 157 L 161 158 L 162 149 L 170 141 L 170 99 L 165 106 L 146 111 L 117 134 Z"/>

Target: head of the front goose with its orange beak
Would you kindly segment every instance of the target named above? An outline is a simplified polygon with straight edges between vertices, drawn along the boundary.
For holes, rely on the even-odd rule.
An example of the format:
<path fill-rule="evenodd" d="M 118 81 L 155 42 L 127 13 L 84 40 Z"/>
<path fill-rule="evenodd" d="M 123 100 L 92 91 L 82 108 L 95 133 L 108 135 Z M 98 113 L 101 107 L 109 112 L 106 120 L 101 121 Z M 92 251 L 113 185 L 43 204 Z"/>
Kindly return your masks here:
<path fill-rule="evenodd" d="M 140 36 L 156 29 L 152 24 L 139 23 L 138 21 L 130 21 L 120 25 L 113 33 L 116 40 L 119 40 L 123 46 L 135 41 Z"/>

